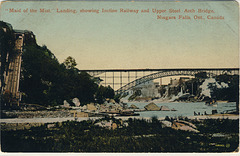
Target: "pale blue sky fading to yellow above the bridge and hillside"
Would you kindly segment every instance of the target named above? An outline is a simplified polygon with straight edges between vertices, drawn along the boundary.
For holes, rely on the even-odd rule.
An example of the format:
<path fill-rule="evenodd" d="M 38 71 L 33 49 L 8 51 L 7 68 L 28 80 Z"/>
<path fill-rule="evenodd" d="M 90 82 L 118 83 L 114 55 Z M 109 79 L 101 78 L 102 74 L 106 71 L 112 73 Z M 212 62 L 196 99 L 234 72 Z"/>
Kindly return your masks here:
<path fill-rule="evenodd" d="M 10 8 L 52 13 L 9 13 Z M 149 8 L 150 13 L 64 14 L 57 8 Z M 224 20 L 158 20 L 152 8 L 181 9 L 191 17 L 200 14 L 184 9 L 209 9 Z M 239 67 L 238 9 L 236 2 L 4 2 L 0 19 L 33 31 L 59 62 L 72 56 L 79 69 L 220 68 Z"/>

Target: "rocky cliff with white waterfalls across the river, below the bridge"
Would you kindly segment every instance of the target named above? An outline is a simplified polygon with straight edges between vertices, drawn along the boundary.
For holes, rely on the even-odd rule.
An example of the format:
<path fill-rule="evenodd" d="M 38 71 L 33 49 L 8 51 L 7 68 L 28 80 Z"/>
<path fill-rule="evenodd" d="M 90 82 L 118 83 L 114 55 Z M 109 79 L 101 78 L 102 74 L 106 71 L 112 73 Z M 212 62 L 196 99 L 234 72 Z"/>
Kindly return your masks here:
<path fill-rule="evenodd" d="M 199 74 L 200 75 L 200 74 Z M 154 87 L 136 87 L 131 100 L 161 98 L 170 101 L 206 101 L 209 99 L 238 101 L 239 76 L 222 74 L 214 78 L 195 77 L 192 79 L 172 80 L 168 85 Z M 156 95 L 146 96 L 146 90 Z M 141 98 L 140 98 L 141 97 Z"/>

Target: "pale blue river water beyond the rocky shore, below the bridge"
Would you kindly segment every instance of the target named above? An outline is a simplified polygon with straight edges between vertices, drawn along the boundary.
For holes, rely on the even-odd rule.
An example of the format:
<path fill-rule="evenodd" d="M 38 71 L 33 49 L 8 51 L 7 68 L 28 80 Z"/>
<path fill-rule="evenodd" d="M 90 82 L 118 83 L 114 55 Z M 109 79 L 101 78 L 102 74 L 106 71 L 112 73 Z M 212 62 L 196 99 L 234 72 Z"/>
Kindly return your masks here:
<path fill-rule="evenodd" d="M 143 109 L 148 103 L 144 102 L 129 102 L 127 103 L 128 106 L 131 104 L 136 105 L 138 108 Z M 216 107 L 207 106 L 205 102 L 195 102 L 195 103 L 156 103 L 158 107 L 167 106 L 170 110 L 175 109 L 177 111 L 144 111 L 144 112 L 137 112 L 140 114 L 141 117 L 179 117 L 179 116 L 194 116 L 194 111 L 196 113 L 200 112 L 200 114 L 204 114 L 206 111 L 207 114 L 212 114 L 212 110 L 217 110 L 218 113 L 221 113 L 226 110 L 236 109 L 236 102 L 229 102 L 229 103 L 218 103 Z"/>

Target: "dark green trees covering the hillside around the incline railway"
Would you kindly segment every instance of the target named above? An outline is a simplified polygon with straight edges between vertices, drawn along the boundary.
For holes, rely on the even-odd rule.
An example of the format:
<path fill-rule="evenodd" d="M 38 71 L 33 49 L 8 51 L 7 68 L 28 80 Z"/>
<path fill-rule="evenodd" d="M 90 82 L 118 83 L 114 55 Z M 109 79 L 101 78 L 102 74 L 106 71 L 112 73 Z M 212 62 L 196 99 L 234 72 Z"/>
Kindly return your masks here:
<path fill-rule="evenodd" d="M 3 87 L 3 73 L 8 69 L 9 62 L 6 58 L 11 59 L 14 55 L 15 36 L 12 26 L 2 21 L 0 33 L 1 84 L 3 84 L 1 87 Z M 86 72 L 79 72 L 74 58 L 69 56 L 60 64 L 47 46 L 36 44 L 32 32 L 22 33 L 25 34 L 20 78 L 20 91 L 24 93 L 22 102 L 54 106 L 62 104 L 64 100 L 71 101 L 75 97 L 81 104 L 95 102 L 95 94 L 101 103 L 105 98 L 114 98 L 114 90 L 110 86 L 98 88 L 99 79 L 91 77 Z"/>

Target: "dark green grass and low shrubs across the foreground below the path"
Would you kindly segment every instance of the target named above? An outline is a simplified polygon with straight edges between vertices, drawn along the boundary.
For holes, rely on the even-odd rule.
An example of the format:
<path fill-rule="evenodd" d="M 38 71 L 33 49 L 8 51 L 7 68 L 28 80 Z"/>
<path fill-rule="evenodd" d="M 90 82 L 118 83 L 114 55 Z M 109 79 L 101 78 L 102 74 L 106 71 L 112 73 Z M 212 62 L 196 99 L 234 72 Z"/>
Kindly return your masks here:
<path fill-rule="evenodd" d="M 117 123 L 118 119 L 114 121 Z M 128 127 L 115 130 L 95 126 L 91 120 L 66 121 L 56 123 L 54 129 L 43 125 L 30 130 L 1 131 L 1 146 L 3 152 L 232 152 L 239 142 L 238 121 L 198 122 L 201 134 L 162 128 L 156 118 L 130 118 Z M 211 137 L 218 132 L 226 137 Z"/>

